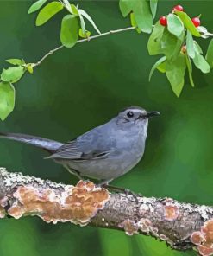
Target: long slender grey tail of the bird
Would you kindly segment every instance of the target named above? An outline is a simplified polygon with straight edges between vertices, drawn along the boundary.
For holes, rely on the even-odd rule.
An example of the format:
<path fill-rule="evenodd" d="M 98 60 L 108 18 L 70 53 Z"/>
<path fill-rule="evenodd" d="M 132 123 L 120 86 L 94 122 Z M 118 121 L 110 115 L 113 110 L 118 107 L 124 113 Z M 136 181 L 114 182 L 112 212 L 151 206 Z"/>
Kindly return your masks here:
<path fill-rule="evenodd" d="M 53 153 L 55 150 L 59 149 L 63 144 L 48 138 L 40 138 L 31 135 L 21 134 L 21 133 L 3 133 L 0 132 L 0 138 L 8 138 L 11 140 L 16 140 L 25 144 L 31 144 L 35 147 L 47 150 L 49 153 Z"/>

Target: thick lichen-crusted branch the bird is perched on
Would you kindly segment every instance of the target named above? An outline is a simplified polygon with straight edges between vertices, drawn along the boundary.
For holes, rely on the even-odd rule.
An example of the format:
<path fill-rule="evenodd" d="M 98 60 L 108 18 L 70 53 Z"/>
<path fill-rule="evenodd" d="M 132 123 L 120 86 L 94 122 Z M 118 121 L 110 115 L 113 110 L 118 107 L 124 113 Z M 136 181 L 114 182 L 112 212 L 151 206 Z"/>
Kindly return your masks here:
<path fill-rule="evenodd" d="M 194 247 L 201 255 L 213 254 L 212 207 L 171 198 L 137 195 L 137 199 L 92 182 L 72 186 L 0 169 L 1 218 L 37 215 L 47 222 L 120 229 L 165 240 L 173 249 Z"/>

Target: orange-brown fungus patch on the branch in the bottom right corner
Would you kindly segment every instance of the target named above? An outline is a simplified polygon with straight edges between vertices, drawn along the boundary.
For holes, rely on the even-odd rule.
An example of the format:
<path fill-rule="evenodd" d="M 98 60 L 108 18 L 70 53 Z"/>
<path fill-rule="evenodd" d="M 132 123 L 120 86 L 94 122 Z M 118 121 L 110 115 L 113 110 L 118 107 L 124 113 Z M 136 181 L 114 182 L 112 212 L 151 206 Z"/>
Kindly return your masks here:
<path fill-rule="evenodd" d="M 200 255 L 213 255 L 213 219 L 205 221 L 200 231 L 191 234 L 191 243 L 197 246 Z"/>

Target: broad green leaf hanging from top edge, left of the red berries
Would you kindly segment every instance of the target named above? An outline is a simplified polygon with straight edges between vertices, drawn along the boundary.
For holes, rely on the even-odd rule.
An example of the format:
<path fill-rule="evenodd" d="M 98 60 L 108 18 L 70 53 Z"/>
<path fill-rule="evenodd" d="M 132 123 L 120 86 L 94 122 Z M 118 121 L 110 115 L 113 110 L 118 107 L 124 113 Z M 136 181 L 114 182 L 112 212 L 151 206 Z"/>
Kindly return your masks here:
<path fill-rule="evenodd" d="M 141 31 L 151 33 L 153 30 L 153 16 L 150 12 L 150 7 L 147 1 L 133 1 L 133 12 L 135 14 L 135 22 Z"/>

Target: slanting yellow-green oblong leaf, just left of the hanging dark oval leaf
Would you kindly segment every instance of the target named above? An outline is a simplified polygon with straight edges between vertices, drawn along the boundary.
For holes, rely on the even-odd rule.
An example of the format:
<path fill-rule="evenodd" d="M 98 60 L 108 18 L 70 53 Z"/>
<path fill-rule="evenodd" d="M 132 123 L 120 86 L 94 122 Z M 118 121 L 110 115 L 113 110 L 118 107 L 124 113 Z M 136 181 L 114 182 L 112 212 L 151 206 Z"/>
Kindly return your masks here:
<path fill-rule="evenodd" d="M 60 2 L 51 2 L 48 3 L 41 11 L 39 12 L 35 24 L 36 26 L 41 26 L 52 18 L 56 13 L 64 8 L 64 5 Z"/>

